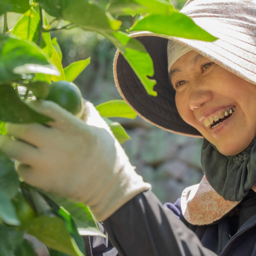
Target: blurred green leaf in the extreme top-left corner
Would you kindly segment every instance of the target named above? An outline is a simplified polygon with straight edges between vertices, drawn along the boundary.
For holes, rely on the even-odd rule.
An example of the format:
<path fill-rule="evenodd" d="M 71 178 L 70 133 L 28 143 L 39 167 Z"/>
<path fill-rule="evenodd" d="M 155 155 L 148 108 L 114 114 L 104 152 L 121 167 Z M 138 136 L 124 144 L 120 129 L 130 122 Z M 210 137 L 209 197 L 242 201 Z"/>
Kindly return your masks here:
<path fill-rule="evenodd" d="M 24 13 L 29 8 L 29 0 L 0 0 L 0 16 L 5 12 Z"/>

